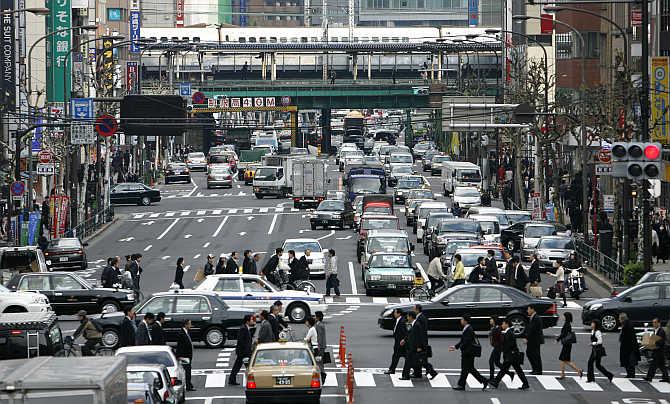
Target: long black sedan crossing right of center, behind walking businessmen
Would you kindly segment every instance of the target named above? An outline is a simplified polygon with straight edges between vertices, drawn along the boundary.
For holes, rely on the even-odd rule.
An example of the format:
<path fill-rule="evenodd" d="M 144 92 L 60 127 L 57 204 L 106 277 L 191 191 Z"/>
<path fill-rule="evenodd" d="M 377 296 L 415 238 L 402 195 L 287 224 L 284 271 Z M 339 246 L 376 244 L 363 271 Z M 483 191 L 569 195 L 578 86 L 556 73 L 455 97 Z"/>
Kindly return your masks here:
<path fill-rule="evenodd" d="M 524 335 L 528 323 L 526 310 L 531 305 L 542 318 L 544 328 L 553 327 L 558 321 L 556 305 L 551 300 L 535 299 L 518 289 L 503 285 L 456 286 L 436 295 L 430 301 L 416 303 L 423 306 L 423 313 L 428 318 L 428 329 L 431 331 L 460 331 L 461 316 L 468 314 L 477 331 L 488 330 L 489 318 L 498 316 L 511 321 L 515 335 Z M 399 308 L 407 312 L 413 306 L 414 303 L 386 306 L 379 317 L 379 326 L 392 330 L 395 325 L 393 309 Z"/>

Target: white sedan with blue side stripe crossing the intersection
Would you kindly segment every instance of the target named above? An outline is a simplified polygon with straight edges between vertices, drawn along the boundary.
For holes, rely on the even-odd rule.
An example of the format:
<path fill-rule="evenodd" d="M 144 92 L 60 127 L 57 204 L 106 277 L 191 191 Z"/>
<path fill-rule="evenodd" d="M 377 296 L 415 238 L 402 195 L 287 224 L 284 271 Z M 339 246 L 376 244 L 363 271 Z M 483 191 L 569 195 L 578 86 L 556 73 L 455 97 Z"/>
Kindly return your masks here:
<path fill-rule="evenodd" d="M 322 294 L 279 290 L 259 275 L 209 275 L 196 290 L 212 291 L 229 306 L 254 311 L 269 310 L 272 303 L 281 300 L 284 314 L 293 322 L 302 322 L 317 311 L 326 311 Z"/>

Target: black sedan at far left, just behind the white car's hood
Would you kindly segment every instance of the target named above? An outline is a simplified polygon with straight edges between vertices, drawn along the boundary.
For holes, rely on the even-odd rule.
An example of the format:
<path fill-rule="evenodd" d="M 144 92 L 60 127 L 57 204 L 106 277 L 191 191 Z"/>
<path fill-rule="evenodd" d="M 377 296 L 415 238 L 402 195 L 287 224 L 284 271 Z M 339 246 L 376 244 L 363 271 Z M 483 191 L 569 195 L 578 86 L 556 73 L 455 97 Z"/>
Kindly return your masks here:
<path fill-rule="evenodd" d="M 118 311 L 135 304 L 132 290 L 98 288 L 71 272 L 27 272 L 15 275 L 7 283 L 13 291 L 42 293 L 56 314 Z"/>

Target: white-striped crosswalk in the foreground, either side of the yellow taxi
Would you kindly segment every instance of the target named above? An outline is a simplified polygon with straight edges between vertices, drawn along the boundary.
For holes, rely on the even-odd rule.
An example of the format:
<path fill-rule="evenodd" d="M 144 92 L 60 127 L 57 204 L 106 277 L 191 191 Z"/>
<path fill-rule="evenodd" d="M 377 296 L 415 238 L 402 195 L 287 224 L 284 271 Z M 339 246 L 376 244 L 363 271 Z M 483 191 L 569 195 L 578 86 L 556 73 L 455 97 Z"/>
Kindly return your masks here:
<path fill-rule="evenodd" d="M 218 366 L 218 365 L 217 365 Z M 457 369 L 438 369 L 438 375 L 430 380 L 422 379 L 400 380 L 401 369 L 397 369 L 393 375 L 383 374 L 384 369 L 361 369 L 354 372 L 354 385 L 356 388 L 397 388 L 397 389 L 451 389 L 458 384 L 459 372 Z M 228 372 L 227 372 L 228 371 Z M 482 375 L 488 375 L 488 369 L 480 369 Z M 530 370 L 528 370 L 530 372 Z M 344 388 L 346 383 L 346 371 L 339 368 L 326 368 L 327 377 L 323 383 L 324 388 Z M 194 369 L 194 383 L 204 385 L 205 388 L 227 387 L 229 369 Z M 642 379 L 626 379 L 615 377 L 610 383 L 606 378 L 596 378 L 593 383 L 587 383 L 586 375 L 580 378 L 572 375 L 559 379 L 557 374 L 529 375 L 527 374 L 530 390 L 547 392 L 622 392 L 622 393 L 664 393 L 670 394 L 670 383 L 653 381 L 651 383 Z M 240 372 L 238 382 L 244 385 L 245 375 Z M 467 387 L 479 390 L 482 385 L 472 376 L 468 376 Z M 521 381 L 515 377 L 510 379 L 505 376 L 498 390 L 517 390 L 521 387 Z"/>

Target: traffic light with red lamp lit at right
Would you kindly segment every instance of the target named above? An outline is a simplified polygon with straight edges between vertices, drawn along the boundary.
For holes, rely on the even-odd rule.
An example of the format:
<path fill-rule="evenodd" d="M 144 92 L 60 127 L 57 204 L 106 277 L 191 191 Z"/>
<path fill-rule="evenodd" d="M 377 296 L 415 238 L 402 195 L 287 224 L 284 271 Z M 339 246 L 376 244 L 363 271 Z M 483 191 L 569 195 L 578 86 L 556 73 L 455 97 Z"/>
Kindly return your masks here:
<path fill-rule="evenodd" d="M 659 178 L 662 150 L 660 143 L 614 143 L 612 145 L 612 175 L 631 180 Z"/>

